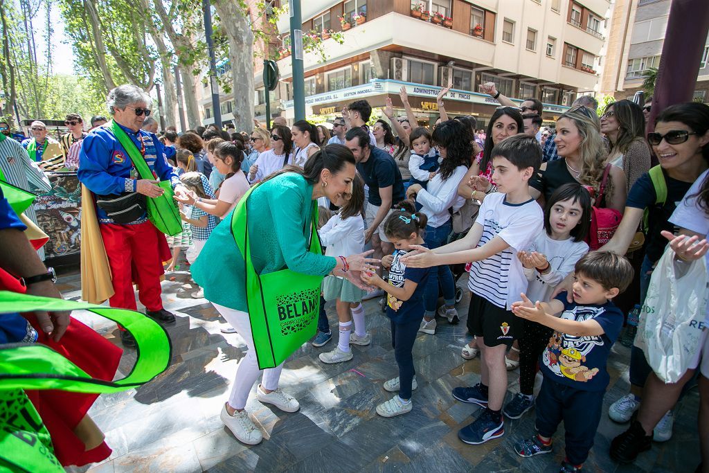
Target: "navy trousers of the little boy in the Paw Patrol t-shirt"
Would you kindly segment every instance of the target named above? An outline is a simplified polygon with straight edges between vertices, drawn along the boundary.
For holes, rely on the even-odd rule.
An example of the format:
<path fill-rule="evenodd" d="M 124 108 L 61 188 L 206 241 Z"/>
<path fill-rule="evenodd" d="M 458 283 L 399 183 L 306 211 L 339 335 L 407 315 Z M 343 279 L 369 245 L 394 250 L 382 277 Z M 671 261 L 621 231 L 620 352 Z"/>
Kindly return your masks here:
<path fill-rule="evenodd" d="M 537 396 L 537 431 L 552 437 L 564 421 L 566 460 L 582 464 L 593 447 L 593 438 L 601 422 L 605 391 L 581 391 L 545 377 Z"/>

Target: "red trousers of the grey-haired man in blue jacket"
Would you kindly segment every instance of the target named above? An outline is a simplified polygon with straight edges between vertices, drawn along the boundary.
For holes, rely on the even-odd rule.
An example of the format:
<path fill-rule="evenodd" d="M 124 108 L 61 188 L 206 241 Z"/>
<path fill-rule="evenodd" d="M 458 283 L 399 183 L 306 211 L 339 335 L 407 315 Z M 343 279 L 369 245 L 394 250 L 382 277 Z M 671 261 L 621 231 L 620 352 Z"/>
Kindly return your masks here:
<path fill-rule="evenodd" d="M 111 279 L 116 294 L 108 300 L 111 307 L 136 310 L 133 281 L 138 284 L 138 298 L 148 311 L 160 311 L 160 277 L 164 274 L 162 262 L 169 260 L 165 235 L 152 223 L 118 225 L 101 223 Z"/>

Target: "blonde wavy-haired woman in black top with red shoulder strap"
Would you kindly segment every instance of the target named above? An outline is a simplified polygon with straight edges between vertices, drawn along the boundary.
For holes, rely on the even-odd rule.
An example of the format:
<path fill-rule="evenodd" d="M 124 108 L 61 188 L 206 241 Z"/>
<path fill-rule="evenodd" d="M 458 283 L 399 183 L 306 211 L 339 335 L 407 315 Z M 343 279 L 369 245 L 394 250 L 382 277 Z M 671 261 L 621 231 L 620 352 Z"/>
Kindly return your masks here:
<path fill-rule="evenodd" d="M 546 201 L 564 184 L 579 182 L 593 189 L 596 206 L 623 212 L 627 192 L 623 169 L 610 166 L 603 196 L 600 195 L 608 157 L 600 129 L 598 115 L 591 108 L 576 106 L 563 113 L 554 136 L 563 159 L 542 163 L 539 174 L 530 179 L 532 197 Z"/>

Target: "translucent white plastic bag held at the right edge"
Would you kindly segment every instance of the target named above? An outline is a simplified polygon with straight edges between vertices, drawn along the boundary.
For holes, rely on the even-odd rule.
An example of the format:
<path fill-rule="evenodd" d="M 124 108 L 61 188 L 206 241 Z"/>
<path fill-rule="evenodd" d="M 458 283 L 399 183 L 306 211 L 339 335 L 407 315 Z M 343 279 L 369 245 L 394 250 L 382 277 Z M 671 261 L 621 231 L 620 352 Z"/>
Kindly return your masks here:
<path fill-rule="evenodd" d="M 652 272 L 635 338 L 635 346 L 665 383 L 679 381 L 700 350 L 707 309 L 705 258 L 675 262 L 674 256 L 668 246 Z M 678 271 L 679 265 L 688 267 Z"/>

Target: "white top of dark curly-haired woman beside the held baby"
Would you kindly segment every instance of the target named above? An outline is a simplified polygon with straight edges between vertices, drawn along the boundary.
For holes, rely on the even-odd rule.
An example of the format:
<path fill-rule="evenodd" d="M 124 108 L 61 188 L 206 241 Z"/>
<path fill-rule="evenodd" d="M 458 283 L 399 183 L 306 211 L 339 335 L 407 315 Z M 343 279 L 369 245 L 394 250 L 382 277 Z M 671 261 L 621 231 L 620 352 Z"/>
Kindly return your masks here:
<path fill-rule="evenodd" d="M 467 167 L 458 166 L 445 181 L 440 174 L 436 174 L 426 189 L 418 191 L 416 201 L 423 206 L 421 211 L 428 217 L 427 225 L 433 228 L 442 226 L 450 220 L 449 208 L 457 211 L 465 204 L 465 199 L 458 195 L 458 184 L 467 172 Z"/>

